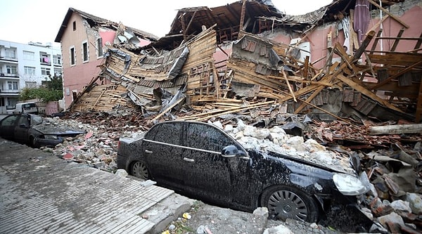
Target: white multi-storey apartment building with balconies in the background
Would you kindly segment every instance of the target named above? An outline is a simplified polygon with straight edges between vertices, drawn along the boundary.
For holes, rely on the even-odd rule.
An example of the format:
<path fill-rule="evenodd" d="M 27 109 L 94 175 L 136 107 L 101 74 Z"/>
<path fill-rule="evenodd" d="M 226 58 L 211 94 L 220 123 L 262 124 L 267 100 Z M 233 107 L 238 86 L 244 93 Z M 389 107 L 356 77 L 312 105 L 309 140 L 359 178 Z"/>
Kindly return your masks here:
<path fill-rule="evenodd" d="M 23 88 L 40 86 L 49 74 L 62 74 L 59 46 L 0 40 L 0 115 L 13 109 Z"/>

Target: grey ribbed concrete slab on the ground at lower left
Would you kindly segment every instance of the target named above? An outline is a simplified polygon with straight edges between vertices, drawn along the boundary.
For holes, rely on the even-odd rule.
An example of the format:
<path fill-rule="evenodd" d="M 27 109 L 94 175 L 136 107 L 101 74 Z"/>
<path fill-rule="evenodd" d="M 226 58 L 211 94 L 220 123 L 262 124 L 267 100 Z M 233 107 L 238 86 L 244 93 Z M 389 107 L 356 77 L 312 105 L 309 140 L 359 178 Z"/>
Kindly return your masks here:
<path fill-rule="evenodd" d="M 141 183 L 0 138 L 0 233 L 157 233 L 190 208 Z"/>

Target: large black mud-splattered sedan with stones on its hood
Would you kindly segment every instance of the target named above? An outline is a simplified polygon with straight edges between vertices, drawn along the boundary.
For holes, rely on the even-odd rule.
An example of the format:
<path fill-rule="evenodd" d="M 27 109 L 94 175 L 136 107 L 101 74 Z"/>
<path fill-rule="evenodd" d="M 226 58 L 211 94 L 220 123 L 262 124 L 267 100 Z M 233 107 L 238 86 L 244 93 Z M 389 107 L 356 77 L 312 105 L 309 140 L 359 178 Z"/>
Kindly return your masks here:
<path fill-rule="evenodd" d="M 245 150 L 212 124 L 161 122 L 138 138 L 120 138 L 117 167 L 204 202 L 247 212 L 267 207 L 271 219 L 347 231 L 368 230 L 372 224 L 357 208 L 357 195 L 368 190 L 366 175 Z"/>

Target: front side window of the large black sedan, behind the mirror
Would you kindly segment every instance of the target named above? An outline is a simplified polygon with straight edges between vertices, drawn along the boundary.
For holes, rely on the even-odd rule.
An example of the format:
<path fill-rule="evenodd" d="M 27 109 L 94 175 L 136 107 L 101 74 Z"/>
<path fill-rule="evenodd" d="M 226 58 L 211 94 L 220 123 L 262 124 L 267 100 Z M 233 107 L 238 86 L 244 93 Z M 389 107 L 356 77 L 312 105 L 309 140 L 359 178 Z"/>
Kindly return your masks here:
<path fill-rule="evenodd" d="M 189 123 L 188 147 L 222 152 L 227 145 L 236 143 L 215 126 L 200 123 Z"/>

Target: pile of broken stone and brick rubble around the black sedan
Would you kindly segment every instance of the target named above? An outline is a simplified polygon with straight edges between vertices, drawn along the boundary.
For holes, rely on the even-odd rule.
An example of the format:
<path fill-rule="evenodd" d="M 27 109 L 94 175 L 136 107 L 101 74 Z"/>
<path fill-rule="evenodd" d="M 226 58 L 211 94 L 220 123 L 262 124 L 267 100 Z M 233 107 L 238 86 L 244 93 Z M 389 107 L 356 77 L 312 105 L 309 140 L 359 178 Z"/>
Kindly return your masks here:
<path fill-rule="evenodd" d="M 75 126 L 87 131 L 87 134 L 67 138 L 63 144 L 56 145 L 56 148 L 43 150 L 51 151 L 65 160 L 86 163 L 110 172 L 117 169 L 119 138 L 136 137 L 152 126 L 151 122 L 146 122 L 145 119 L 136 120 L 133 113 L 126 112 L 72 113 L 63 119 L 56 117 L 49 121 L 58 125 Z M 378 147 L 376 150 L 354 152 L 343 145 L 328 145 L 326 139 L 329 134 L 324 131 L 335 132 L 335 129 L 331 129 L 331 125 L 328 127 L 318 122 L 309 124 L 307 132 L 303 134 L 305 137 L 286 134 L 282 126 L 257 127 L 241 117 L 230 120 L 213 119 L 208 122 L 224 129 L 245 148 L 281 152 L 345 172 L 352 171 L 348 155 L 359 153 L 372 186 L 362 200 L 363 211 L 385 228 L 397 230 L 397 233 L 416 233 L 415 230 L 422 226 L 421 141 L 409 145 L 395 143 L 393 148 Z M 331 124 L 341 126 L 335 122 Z M 368 137 L 360 132 L 362 137 Z M 313 139 L 309 136 L 320 137 Z"/>

